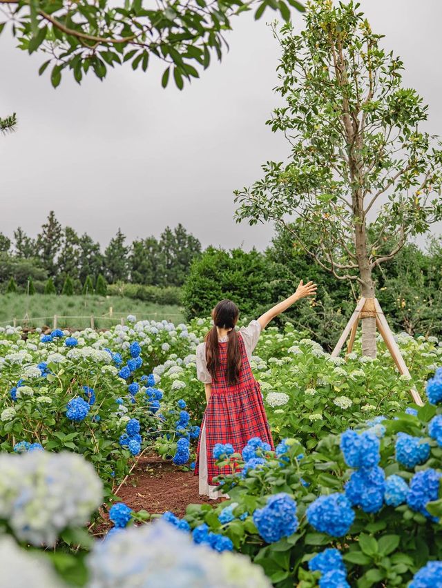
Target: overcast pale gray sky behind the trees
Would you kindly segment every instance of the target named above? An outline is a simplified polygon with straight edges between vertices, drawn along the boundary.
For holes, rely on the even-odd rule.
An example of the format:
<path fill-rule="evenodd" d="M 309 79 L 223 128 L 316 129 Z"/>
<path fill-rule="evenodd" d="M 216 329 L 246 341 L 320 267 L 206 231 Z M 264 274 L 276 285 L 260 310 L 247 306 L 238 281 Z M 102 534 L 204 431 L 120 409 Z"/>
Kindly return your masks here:
<path fill-rule="evenodd" d="M 442 135 L 440 0 L 361 0 L 386 48 L 403 58 L 405 85 L 430 105 L 427 130 Z M 0 139 L 0 231 L 37 234 L 50 209 L 104 246 L 120 226 L 129 240 L 182 222 L 203 246 L 264 248 L 271 226 L 233 222 L 233 190 L 289 153 L 265 121 L 278 104 L 278 43 L 265 21 L 234 19 L 230 51 L 182 92 L 160 86 L 162 67 L 111 70 L 54 90 L 39 77 L 42 55 L 0 37 L 0 115 L 17 133 Z M 299 23 L 302 17 L 294 13 Z M 152 60 L 152 63 L 154 60 Z M 440 226 L 434 228 L 440 233 Z"/>

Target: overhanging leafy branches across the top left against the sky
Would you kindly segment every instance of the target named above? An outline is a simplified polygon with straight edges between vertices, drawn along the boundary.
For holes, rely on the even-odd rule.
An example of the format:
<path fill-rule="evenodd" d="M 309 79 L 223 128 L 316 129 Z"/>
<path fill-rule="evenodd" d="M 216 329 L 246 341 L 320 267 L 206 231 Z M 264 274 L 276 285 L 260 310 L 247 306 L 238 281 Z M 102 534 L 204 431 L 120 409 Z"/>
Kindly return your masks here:
<path fill-rule="evenodd" d="M 2 5 L 0 33 L 10 22 L 21 49 L 46 54 L 39 72 L 51 66 L 55 87 L 64 70 L 80 83 L 90 71 L 103 79 L 108 67 L 126 61 L 146 71 L 155 57 L 165 66 L 162 85 L 173 77 L 182 89 L 184 80 L 209 66 L 213 52 L 221 59 L 235 15 L 256 8 L 258 19 L 271 8 L 288 21 L 289 6 L 304 10 L 298 0 L 0 0 Z"/>

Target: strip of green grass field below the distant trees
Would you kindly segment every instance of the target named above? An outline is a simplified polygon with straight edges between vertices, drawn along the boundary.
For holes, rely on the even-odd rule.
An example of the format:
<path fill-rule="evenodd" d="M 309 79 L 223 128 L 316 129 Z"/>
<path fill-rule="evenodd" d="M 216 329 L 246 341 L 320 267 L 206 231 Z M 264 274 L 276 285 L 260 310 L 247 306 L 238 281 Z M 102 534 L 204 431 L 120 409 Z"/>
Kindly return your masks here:
<path fill-rule="evenodd" d="M 112 319 L 109 317 L 110 308 L 113 309 Z M 31 320 L 23 322 L 26 315 Z M 127 315 L 135 315 L 138 320 L 167 319 L 175 324 L 184 321 L 179 306 L 162 306 L 121 296 L 0 295 L 0 326 L 12 324 L 14 319 L 17 326 L 52 326 L 54 315 L 57 315 L 57 326 L 76 329 L 90 326 L 90 316 L 94 317 L 96 329 L 113 326 Z"/>

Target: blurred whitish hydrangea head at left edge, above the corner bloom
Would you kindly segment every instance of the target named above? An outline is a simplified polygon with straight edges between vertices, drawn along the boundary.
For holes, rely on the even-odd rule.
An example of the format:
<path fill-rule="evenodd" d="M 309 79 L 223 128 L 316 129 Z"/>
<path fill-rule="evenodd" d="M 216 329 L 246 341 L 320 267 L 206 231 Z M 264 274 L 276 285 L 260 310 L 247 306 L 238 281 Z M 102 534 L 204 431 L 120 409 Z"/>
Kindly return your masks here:
<path fill-rule="evenodd" d="M 86 525 L 102 498 L 102 481 L 80 455 L 0 454 L 0 518 L 20 541 L 55 545 L 67 527 Z"/>

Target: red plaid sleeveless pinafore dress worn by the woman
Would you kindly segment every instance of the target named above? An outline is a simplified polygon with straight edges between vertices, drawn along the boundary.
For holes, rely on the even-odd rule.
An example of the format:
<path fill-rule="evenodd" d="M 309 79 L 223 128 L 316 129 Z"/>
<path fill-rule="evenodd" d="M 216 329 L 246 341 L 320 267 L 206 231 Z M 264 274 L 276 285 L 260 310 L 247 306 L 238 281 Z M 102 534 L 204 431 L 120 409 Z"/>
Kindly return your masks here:
<path fill-rule="evenodd" d="M 251 437 L 259 437 L 274 449 L 269 423 L 262 402 L 260 385 L 253 378 L 249 359 L 242 336 L 239 334 L 241 369 L 238 384 L 227 383 L 227 342 L 219 342 L 220 367 L 211 382 L 211 397 L 201 424 L 206 425 L 207 481 L 215 484 L 213 478 L 221 473 L 231 473 L 229 466 L 219 468 L 213 459 L 213 446 L 217 443 L 231 443 L 236 452 L 241 452 Z M 198 442 L 195 476 L 199 473 L 200 441 Z"/>

